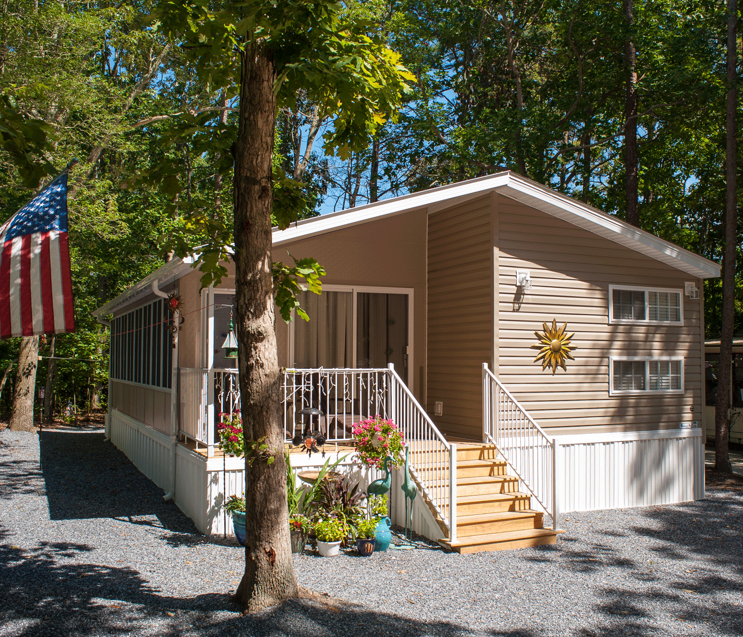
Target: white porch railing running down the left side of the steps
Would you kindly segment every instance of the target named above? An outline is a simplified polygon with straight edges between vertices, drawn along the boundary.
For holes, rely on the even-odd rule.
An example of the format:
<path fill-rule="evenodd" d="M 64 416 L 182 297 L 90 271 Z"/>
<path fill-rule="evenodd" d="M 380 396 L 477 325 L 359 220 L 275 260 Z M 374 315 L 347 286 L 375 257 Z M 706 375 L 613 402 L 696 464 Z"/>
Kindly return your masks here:
<path fill-rule="evenodd" d="M 181 434 L 213 448 L 220 412 L 240 408 L 238 370 L 181 368 Z M 405 434 L 410 472 L 456 540 L 456 445 L 438 431 L 393 365 L 380 369 L 288 369 L 280 386 L 286 442 L 322 431 L 327 442 L 349 442 L 364 418 L 392 419 Z M 211 410 L 211 417 L 210 417 Z"/>

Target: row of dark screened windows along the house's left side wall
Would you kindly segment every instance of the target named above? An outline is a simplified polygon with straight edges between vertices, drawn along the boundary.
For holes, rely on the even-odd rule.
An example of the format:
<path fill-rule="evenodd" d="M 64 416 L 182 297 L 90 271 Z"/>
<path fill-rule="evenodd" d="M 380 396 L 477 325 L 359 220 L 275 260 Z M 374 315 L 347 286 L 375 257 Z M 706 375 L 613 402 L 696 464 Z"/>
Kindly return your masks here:
<path fill-rule="evenodd" d="M 153 301 L 111 321 L 111 378 L 169 389 L 172 333 L 163 301 Z"/>

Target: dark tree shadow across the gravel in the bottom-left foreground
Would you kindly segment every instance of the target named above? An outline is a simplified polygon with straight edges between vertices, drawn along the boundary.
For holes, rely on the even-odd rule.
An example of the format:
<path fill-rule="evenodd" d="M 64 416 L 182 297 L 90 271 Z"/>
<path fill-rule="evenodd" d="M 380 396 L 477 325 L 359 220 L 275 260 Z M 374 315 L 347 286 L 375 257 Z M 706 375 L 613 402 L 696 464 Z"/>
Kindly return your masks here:
<path fill-rule="evenodd" d="M 8 532 L 0 529 L 0 543 Z M 448 621 L 417 621 L 369 607 L 293 600 L 249 617 L 227 594 L 190 598 L 160 595 L 129 567 L 67 564 L 59 558 L 91 550 L 84 544 L 42 543 L 35 549 L 0 545 L 0 626 L 4 635 L 105 636 L 409 636 L 460 637 L 465 627 Z M 225 612 L 228 614 L 225 615 Z M 532 637 L 516 631 L 499 636 Z"/>

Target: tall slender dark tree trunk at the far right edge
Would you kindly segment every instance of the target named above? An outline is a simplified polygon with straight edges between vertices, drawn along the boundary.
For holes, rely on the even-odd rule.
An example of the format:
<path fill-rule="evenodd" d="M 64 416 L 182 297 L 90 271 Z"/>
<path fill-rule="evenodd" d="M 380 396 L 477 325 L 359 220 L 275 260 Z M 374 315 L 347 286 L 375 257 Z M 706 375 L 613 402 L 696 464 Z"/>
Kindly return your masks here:
<path fill-rule="evenodd" d="M 720 367 L 715 402 L 715 471 L 733 473 L 730 466 L 728 437 L 730 422 L 730 373 L 733 359 L 733 322 L 736 296 L 736 244 L 738 230 L 738 201 L 736 197 L 736 105 L 738 102 L 736 65 L 736 36 L 738 32 L 737 0 L 727 0 L 727 118 L 725 121 L 725 250 L 722 256 L 722 325 L 720 334 Z"/>

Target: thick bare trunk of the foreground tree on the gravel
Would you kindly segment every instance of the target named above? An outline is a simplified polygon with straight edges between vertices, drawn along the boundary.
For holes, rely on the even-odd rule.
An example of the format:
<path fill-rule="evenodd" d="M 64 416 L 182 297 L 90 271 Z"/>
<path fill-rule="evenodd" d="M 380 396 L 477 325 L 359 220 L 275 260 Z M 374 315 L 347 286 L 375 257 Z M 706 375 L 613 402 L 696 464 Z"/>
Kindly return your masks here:
<path fill-rule="evenodd" d="M 296 597 L 289 543 L 284 436 L 279 419 L 279 362 L 273 329 L 271 157 L 276 123 L 273 53 L 242 54 L 235 156 L 235 267 L 241 415 L 245 439 L 245 573 L 236 598 L 246 611 Z M 269 464 L 250 452 L 262 441 Z"/>

